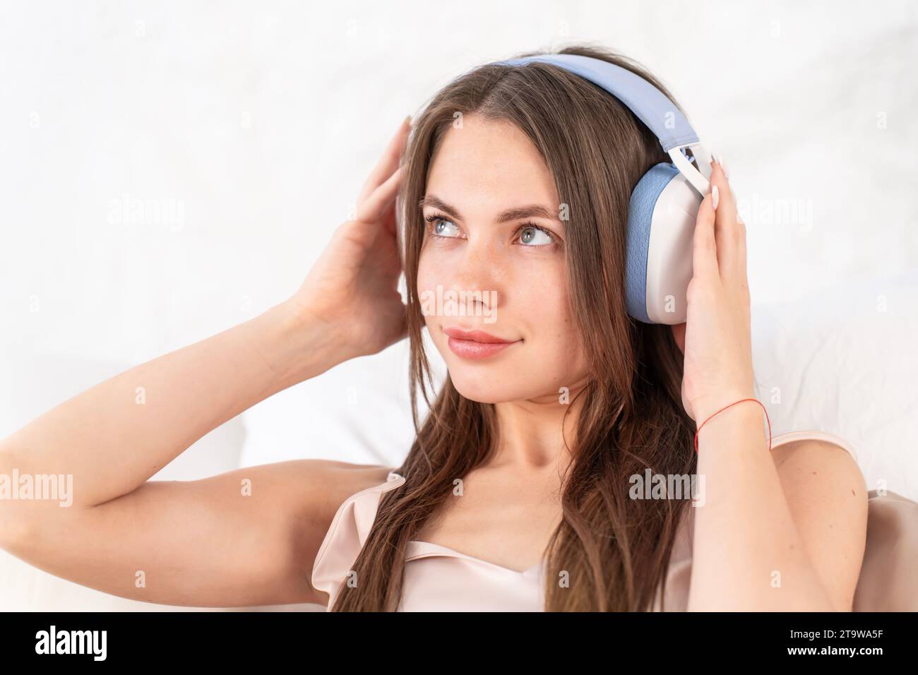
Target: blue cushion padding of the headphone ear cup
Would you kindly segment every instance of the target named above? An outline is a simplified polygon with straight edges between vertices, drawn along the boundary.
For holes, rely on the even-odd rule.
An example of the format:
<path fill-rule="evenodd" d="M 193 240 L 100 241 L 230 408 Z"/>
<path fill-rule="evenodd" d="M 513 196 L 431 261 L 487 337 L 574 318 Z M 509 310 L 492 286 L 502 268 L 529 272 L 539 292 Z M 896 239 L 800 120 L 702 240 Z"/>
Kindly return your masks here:
<path fill-rule="evenodd" d="M 650 228 L 660 194 L 679 174 L 670 163 L 652 166 L 632 190 L 628 204 L 625 231 L 625 305 L 633 319 L 652 323 L 647 316 L 647 253 L 650 250 Z"/>

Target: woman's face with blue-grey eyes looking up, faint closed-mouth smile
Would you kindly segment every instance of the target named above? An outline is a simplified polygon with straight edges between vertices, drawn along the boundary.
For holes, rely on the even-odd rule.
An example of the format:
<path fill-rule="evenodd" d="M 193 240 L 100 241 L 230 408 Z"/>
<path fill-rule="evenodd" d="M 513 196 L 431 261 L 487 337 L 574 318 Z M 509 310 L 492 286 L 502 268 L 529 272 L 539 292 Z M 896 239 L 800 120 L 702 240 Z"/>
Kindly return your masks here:
<path fill-rule="evenodd" d="M 469 115 L 444 135 L 423 200 L 418 294 L 467 399 L 558 399 L 585 374 L 560 207 L 548 167 L 512 124 Z"/>

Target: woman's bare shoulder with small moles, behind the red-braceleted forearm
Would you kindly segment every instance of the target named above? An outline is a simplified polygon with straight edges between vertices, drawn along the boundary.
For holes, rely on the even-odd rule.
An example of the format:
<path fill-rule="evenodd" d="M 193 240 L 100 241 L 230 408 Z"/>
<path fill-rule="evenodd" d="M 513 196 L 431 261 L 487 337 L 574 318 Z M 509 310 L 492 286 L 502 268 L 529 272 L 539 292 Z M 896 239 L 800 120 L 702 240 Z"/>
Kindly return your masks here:
<path fill-rule="evenodd" d="M 781 488 L 817 574 L 839 610 L 851 611 L 867 541 L 868 489 L 845 448 L 800 439 L 773 451 Z"/>

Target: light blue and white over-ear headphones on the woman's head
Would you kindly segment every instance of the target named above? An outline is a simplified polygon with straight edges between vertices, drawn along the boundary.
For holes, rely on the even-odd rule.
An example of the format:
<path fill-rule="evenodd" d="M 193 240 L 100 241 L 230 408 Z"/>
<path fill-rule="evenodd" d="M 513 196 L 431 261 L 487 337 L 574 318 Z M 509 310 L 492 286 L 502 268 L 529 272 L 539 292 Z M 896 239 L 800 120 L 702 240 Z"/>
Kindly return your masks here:
<path fill-rule="evenodd" d="M 496 62 L 551 63 L 598 84 L 654 132 L 672 163 L 652 166 L 634 186 L 628 205 L 625 301 L 644 323 L 686 321 L 692 276 L 692 240 L 701 199 L 708 194 L 711 155 L 678 107 L 643 77 L 614 63 L 576 54 L 539 54 Z M 691 149 L 692 158 L 685 154 Z M 693 163 L 694 162 L 694 163 Z"/>

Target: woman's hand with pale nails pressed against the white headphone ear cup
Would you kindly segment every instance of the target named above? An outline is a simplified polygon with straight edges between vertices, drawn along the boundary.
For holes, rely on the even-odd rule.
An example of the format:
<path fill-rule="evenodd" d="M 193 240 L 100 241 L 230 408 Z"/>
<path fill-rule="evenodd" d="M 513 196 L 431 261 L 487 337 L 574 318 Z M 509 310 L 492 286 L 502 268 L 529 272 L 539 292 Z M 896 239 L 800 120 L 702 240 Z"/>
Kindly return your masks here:
<path fill-rule="evenodd" d="M 745 225 L 721 164 L 711 166 L 711 194 L 695 225 L 686 322 L 673 327 L 685 354 L 682 404 L 696 424 L 756 398 Z"/>

